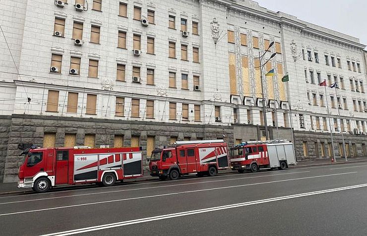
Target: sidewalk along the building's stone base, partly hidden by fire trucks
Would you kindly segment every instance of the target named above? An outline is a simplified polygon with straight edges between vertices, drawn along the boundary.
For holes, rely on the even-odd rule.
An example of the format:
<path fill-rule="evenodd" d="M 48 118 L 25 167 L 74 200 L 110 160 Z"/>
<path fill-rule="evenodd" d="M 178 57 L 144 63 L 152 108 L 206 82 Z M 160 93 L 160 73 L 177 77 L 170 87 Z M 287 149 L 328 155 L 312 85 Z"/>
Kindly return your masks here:
<path fill-rule="evenodd" d="M 322 166 L 322 165 L 338 165 L 338 164 L 345 164 L 345 163 L 358 163 L 358 162 L 365 162 L 367 161 L 367 157 L 351 157 L 348 158 L 348 162 L 345 161 L 344 158 L 336 158 L 336 163 L 331 162 L 331 158 L 323 158 L 323 159 L 303 159 L 298 160 L 297 166 L 291 166 L 291 169 L 300 168 L 300 167 L 310 167 L 310 166 Z M 225 170 L 225 171 L 219 171 L 220 175 L 228 175 L 230 173 L 236 173 L 232 170 Z M 131 180 L 125 180 L 124 183 L 133 183 L 133 182 L 141 182 L 141 181 L 149 181 L 149 180 L 158 180 L 157 177 L 151 177 L 149 175 L 149 172 L 144 172 L 144 176 L 136 179 Z M 120 183 L 119 183 L 120 184 Z M 78 189 L 78 188 L 93 188 L 96 187 L 95 184 L 83 184 L 83 185 L 77 185 L 77 186 L 70 186 L 70 185 L 60 185 L 59 187 L 55 189 Z M 6 196 L 10 194 L 22 194 L 22 193 L 29 193 L 33 192 L 31 188 L 17 188 L 17 183 L 0 183 L 0 196 Z"/>

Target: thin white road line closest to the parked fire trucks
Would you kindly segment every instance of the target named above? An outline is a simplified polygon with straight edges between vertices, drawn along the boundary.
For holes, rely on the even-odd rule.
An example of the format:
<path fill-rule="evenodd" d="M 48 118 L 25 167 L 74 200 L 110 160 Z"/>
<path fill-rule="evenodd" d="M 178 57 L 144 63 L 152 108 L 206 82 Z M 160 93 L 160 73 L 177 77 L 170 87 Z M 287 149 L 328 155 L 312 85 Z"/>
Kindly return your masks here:
<path fill-rule="evenodd" d="M 222 182 L 222 181 L 231 181 L 231 180 L 247 179 L 247 178 L 260 178 L 260 177 L 294 175 L 294 174 L 299 174 L 299 173 L 309 173 L 309 171 L 283 173 L 283 174 L 276 174 L 276 175 L 265 175 L 265 176 L 252 176 L 252 177 L 219 179 L 219 180 L 210 180 L 210 181 L 193 182 L 193 183 L 169 184 L 169 185 L 154 186 L 154 187 L 131 188 L 131 189 L 122 189 L 122 190 L 114 190 L 114 191 L 103 191 L 103 192 L 94 192 L 94 193 L 84 193 L 84 194 L 75 194 L 75 195 L 60 196 L 60 197 L 46 197 L 46 198 L 30 199 L 30 200 L 23 200 L 23 201 L 2 202 L 2 203 L 0 203 L 0 205 L 12 204 L 12 203 L 20 203 L 20 202 L 33 202 L 33 201 L 41 201 L 41 200 L 48 200 L 48 199 L 52 199 L 53 200 L 53 199 L 58 199 L 58 198 L 78 197 L 78 196 L 96 195 L 96 194 L 113 193 L 113 192 L 125 192 L 125 191 L 134 191 L 134 190 L 152 189 L 152 188 L 163 188 L 163 187 L 173 187 L 173 186 L 192 185 L 192 184 L 201 184 L 201 183 Z"/>

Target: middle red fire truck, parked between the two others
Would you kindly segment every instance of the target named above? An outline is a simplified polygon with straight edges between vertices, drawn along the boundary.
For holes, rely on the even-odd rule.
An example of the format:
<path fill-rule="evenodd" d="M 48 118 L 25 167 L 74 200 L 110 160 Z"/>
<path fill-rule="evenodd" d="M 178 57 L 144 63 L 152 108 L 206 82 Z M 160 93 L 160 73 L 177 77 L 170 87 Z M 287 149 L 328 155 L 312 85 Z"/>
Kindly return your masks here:
<path fill-rule="evenodd" d="M 229 168 L 227 143 L 223 140 L 179 141 L 152 152 L 150 175 L 160 179 L 177 179 L 196 173 L 215 176 L 218 170 Z"/>

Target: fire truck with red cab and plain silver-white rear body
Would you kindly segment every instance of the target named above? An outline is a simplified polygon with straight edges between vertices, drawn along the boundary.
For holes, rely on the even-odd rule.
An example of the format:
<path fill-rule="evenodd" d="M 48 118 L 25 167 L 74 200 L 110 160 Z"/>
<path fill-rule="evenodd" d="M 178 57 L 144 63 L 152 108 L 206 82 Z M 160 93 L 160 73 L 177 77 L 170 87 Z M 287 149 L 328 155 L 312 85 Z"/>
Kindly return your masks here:
<path fill-rule="evenodd" d="M 232 170 L 244 173 L 261 168 L 285 170 L 296 165 L 293 143 L 287 140 L 250 141 L 230 149 Z"/>

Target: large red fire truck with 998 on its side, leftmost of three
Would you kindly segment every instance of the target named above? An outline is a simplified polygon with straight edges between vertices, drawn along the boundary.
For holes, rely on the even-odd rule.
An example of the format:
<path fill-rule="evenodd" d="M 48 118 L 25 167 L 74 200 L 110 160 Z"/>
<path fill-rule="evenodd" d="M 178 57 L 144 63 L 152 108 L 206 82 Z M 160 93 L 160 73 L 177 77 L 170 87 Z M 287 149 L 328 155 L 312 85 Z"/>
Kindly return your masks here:
<path fill-rule="evenodd" d="M 46 192 L 59 184 L 97 183 L 143 176 L 142 153 L 129 148 L 35 148 L 19 167 L 19 188 Z"/>

